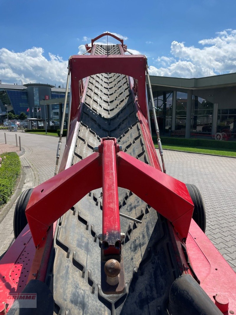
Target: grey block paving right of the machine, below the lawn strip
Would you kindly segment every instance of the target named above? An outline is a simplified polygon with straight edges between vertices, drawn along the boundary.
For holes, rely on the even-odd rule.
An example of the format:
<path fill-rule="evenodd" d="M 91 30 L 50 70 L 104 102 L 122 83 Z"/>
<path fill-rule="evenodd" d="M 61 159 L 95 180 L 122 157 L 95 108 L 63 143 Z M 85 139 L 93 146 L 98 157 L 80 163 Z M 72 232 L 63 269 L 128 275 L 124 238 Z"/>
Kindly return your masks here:
<path fill-rule="evenodd" d="M 206 235 L 236 271 L 236 159 L 170 150 L 164 159 L 168 175 L 198 187 Z"/>

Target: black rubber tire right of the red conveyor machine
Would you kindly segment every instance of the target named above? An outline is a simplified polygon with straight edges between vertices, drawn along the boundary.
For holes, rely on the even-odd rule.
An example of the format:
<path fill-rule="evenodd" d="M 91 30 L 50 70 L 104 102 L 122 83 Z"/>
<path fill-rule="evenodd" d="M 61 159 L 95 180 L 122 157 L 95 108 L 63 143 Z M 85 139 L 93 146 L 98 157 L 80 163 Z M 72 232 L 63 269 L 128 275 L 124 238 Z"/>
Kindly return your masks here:
<path fill-rule="evenodd" d="M 186 184 L 189 195 L 194 203 L 193 219 L 200 227 L 200 229 L 205 233 L 206 230 L 206 212 L 203 202 L 203 198 L 198 188 L 193 184 Z"/>

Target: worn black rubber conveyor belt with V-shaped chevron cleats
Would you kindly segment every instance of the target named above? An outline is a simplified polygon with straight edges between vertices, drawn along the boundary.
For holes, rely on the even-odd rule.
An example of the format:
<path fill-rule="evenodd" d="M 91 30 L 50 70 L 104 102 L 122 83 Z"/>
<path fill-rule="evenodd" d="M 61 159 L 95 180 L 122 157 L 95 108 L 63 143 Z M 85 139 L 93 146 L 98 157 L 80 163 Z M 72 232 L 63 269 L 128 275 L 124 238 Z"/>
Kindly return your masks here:
<path fill-rule="evenodd" d="M 119 46 L 96 45 L 94 54 L 107 52 L 120 54 Z M 92 154 L 106 136 L 117 138 L 123 151 L 149 164 L 129 81 L 122 74 L 89 77 L 71 164 Z M 46 278 L 55 300 L 54 314 L 167 314 L 169 290 L 179 274 L 166 221 L 121 188 L 120 212 L 142 224 L 120 218 L 121 232 L 126 233 L 122 245 L 126 289 L 120 295 L 102 292 L 100 193 L 101 189 L 90 192 L 57 223 Z"/>

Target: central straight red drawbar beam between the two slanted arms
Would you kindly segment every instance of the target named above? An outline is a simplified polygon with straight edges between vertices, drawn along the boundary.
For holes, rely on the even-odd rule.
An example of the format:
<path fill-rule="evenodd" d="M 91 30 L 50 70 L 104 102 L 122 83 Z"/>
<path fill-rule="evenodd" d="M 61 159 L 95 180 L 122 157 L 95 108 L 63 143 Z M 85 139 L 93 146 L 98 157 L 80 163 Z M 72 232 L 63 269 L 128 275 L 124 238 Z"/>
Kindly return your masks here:
<path fill-rule="evenodd" d="M 111 140 L 110 140 L 111 139 Z M 115 138 L 102 139 L 98 147 L 103 165 L 103 253 L 121 254 L 121 226 L 117 186 Z"/>

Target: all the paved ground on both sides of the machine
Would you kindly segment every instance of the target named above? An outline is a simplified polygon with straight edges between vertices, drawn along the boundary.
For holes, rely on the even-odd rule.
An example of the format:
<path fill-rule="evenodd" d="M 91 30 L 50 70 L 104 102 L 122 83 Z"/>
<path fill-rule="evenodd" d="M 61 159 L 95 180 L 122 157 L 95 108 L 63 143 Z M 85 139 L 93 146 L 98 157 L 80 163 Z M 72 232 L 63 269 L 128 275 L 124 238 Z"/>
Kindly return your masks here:
<path fill-rule="evenodd" d="M 15 133 L 7 132 L 7 143 L 15 145 Z M 22 190 L 35 187 L 54 175 L 59 138 L 18 132 L 25 153 L 20 156 L 25 171 Z M 0 131 L 0 144 L 5 143 Z M 13 147 L 12 146 L 12 147 Z M 65 138 L 62 138 L 63 154 Z M 0 145 L 1 147 L 1 145 Z M 159 155 L 159 153 L 158 153 Z M 167 174 L 195 184 L 205 201 L 206 234 L 236 271 L 236 159 L 164 150 Z M 0 255 L 14 240 L 15 203 L 0 224 Z"/>

